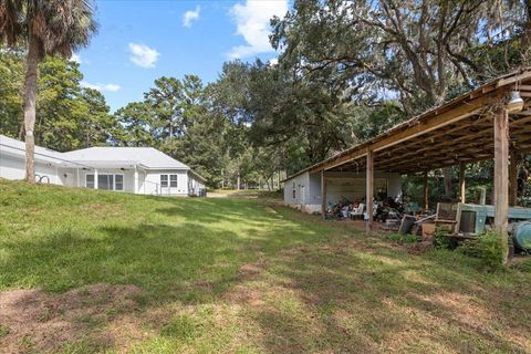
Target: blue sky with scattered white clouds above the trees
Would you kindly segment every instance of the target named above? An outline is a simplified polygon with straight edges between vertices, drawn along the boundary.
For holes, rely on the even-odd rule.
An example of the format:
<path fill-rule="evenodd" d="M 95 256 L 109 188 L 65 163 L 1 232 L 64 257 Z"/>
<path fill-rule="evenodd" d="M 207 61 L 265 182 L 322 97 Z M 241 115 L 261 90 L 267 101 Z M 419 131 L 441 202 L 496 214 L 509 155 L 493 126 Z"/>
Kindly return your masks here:
<path fill-rule="evenodd" d="M 163 75 L 215 81 L 227 60 L 277 56 L 269 18 L 288 0 L 96 0 L 98 33 L 73 56 L 85 86 L 98 88 L 112 111 L 139 101 Z"/>

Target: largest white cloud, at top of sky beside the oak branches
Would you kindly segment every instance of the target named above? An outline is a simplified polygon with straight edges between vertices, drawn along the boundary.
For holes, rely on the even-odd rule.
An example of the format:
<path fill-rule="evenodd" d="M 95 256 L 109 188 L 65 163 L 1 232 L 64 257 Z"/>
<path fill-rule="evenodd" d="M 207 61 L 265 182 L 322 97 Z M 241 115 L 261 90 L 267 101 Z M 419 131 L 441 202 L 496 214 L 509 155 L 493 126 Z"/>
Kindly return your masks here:
<path fill-rule="evenodd" d="M 237 24 L 237 34 L 243 37 L 247 45 L 233 46 L 231 59 L 252 56 L 273 51 L 269 42 L 269 21 L 273 15 L 282 18 L 288 11 L 288 0 L 253 1 L 237 3 L 230 10 Z"/>

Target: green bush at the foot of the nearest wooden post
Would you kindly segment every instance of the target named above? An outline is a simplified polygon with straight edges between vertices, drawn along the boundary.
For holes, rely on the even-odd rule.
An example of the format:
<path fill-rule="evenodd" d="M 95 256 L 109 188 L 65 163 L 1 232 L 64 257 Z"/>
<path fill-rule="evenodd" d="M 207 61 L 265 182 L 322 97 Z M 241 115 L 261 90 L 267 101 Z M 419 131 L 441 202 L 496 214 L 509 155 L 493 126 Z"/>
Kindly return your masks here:
<path fill-rule="evenodd" d="M 462 242 L 461 252 L 479 258 L 481 263 L 488 268 L 501 267 L 503 248 L 501 247 L 501 235 L 489 230 L 481 236 Z"/>

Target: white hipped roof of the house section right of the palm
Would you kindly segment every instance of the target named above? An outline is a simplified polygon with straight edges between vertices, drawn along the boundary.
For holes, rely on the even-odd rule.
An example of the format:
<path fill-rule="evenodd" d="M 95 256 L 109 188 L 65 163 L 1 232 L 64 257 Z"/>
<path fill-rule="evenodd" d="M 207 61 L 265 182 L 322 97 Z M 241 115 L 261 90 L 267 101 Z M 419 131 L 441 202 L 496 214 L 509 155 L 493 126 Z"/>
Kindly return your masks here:
<path fill-rule="evenodd" d="M 147 169 L 190 169 L 187 165 L 153 147 L 90 147 L 63 154 L 76 163 L 138 164 Z"/>

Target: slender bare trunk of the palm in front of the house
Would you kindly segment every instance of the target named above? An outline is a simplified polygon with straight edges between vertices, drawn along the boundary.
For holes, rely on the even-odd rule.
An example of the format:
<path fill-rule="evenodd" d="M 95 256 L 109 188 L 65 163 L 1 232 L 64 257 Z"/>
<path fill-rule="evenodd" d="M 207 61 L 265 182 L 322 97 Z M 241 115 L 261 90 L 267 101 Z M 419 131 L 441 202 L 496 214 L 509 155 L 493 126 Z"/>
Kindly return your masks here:
<path fill-rule="evenodd" d="M 30 34 L 28 50 L 28 69 L 25 73 L 24 92 L 24 131 L 25 131 L 25 180 L 35 183 L 35 96 L 37 96 L 37 71 L 40 59 L 39 40 Z"/>

